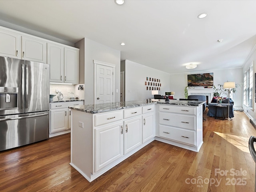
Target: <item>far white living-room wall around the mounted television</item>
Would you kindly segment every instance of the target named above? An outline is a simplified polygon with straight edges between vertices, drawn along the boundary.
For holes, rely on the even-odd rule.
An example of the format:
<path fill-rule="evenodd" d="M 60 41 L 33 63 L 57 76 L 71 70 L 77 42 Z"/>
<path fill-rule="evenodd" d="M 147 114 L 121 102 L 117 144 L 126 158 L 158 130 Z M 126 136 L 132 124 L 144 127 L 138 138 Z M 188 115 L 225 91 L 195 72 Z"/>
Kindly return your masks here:
<path fill-rule="evenodd" d="M 204 71 L 193 71 L 188 73 L 178 73 L 170 74 L 170 89 L 175 92 L 175 98 L 185 98 L 184 88 L 188 86 L 187 75 L 188 74 L 202 74 L 202 73 L 212 73 L 213 72 L 213 84 L 217 86 L 218 84 L 224 84 L 226 81 L 242 83 L 243 75 L 242 68 L 234 68 L 229 70 L 204 70 Z M 238 89 L 238 92 L 233 95 L 234 106 L 242 107 L 242 88 Z M 226 97 L 226 96 L 225 96 Z M 209 98 L 209 100 L 212 98 Z"/>

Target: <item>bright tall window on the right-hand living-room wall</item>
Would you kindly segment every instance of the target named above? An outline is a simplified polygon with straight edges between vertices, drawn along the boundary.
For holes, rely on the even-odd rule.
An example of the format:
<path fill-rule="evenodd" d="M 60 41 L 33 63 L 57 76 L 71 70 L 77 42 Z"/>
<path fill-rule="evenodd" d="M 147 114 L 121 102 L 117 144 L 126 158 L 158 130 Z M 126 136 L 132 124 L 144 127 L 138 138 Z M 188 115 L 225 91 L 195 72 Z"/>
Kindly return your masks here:
<path fill-rule="evenodd" d="M 253 62 L 251 66 L 244 72 L 244 105 L 252 108 L 253 96 Z"/>

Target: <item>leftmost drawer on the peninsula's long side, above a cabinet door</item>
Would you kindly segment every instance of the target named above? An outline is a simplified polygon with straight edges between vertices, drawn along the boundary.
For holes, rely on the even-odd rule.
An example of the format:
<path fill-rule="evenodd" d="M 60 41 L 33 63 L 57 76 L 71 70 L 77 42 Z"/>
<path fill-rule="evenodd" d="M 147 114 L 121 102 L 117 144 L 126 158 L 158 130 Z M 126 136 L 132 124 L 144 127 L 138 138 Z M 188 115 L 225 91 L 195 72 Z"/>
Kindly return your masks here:
<path fill-rule="evenodd" d="M 106 114 L 95 115 L 95 126 L 122 120 L 123 111 L 116 111 Z"/>

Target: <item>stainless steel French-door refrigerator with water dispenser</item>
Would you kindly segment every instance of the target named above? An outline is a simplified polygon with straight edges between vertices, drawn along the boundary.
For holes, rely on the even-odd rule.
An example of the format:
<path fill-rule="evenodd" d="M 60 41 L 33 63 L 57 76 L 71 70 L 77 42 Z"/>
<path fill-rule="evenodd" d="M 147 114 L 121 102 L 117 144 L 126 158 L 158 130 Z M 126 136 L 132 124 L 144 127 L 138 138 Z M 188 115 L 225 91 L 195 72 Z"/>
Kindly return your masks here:
<path fill-rule="evenodd" d="M 0 57 L 0 151 L 49 138 L 50 65 Z"/>

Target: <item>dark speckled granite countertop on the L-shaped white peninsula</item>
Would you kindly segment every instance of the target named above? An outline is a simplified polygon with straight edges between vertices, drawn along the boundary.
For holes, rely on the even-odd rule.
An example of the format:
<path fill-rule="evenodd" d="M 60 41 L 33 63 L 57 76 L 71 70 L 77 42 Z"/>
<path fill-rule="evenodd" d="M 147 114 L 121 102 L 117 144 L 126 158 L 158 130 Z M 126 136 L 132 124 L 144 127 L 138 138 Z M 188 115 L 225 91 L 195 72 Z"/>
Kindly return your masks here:
<path fill-rule="evenodd" d="M 165 102 L 164 100 L 138 100 L 138 101 L 125 101 L 125 102 L 114 102 L 114 103 L 105 103 L 105 104 L 91 104 L 91 105 L 78 105 L 78 106 L 70 106 L 68 108 L 73 110 L 78 110 L 87 113 L 103 113 L 114 110 L 133 108 L 139 106 L 145 106 L 150 104 L 170 104 L 170 105 L 180 105 L 180 106 L 200 106 L 205 103 L 205 101 L 180 101 L 180 100 L 170 100 L 169 102 Z"/>

